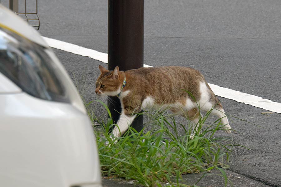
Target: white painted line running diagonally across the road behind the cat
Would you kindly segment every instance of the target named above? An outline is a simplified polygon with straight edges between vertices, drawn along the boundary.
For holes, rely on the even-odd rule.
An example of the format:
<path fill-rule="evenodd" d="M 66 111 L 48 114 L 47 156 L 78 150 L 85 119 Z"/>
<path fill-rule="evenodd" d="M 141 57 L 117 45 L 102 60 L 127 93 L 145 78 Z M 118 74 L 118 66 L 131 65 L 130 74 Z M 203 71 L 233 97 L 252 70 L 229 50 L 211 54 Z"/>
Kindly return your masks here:
<path fill-rule="evenodd" d="M 67 43 L 64 41 L 55 40 L 52 38 L 43 37 L 50 47 L 64 50 L 67 52 L 74 53 L 76 55 L 87 56 L 89 58 L 99 60 L 103 63 L 107 63 L 108 55 L 106 53 L 101 53 L 96 50 L 87 49 L 85 47 L 77 46 L 75 44 Z M 144 67 L 153 67 L 150 65 L 143 65 Z M 281 113 L 281 103 L 273 102 L 269 99 L 261 98 L 255 95 L 250 95 L 248 93 L 239 92 L 233 89 L 228 89 L 224 87 L 217 86 L 215 84 L 208 83 L 213 90 L 213 92 L 224 98 L 228 98 L 239 103 L 249 104 L 254 107 L 263 108 L 276 113 Z"/>

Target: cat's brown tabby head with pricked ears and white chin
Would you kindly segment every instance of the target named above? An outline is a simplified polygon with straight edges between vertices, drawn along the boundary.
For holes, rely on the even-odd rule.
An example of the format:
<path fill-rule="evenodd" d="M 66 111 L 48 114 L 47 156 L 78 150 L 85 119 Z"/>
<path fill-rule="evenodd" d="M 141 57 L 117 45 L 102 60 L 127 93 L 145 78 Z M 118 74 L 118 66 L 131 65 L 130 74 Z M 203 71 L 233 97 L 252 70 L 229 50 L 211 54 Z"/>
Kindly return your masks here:
<path fill-rule="evenodd" d="M 99 69 L 101 74 L 96 80 L 96 94 L 116 96 L 121 92 L 122 86 L 122 82 L 119 80 L 119 67 L 116 66 L 113 71 L 109 71 L 99 65 Z"/>

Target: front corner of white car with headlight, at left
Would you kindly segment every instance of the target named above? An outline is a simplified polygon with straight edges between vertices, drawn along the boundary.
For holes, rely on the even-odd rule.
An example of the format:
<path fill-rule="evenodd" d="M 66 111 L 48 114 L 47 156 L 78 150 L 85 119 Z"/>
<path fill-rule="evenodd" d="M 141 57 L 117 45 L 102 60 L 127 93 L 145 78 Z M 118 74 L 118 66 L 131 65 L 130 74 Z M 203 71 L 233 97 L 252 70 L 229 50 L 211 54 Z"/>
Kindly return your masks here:
<path fill-rule="evenodd" d="M 82 100 L 51 48 L 0 5 L 0 186 L 101 187 Z"/>

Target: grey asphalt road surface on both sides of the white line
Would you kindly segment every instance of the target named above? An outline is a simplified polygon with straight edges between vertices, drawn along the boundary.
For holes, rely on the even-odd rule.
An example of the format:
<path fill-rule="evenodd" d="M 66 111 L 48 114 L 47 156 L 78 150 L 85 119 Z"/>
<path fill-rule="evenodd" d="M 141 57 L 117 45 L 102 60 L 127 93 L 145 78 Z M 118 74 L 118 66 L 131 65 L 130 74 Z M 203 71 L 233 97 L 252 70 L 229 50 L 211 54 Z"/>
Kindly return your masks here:
<path fill-rule="evenodd" d="M 107 53 L 107 6 L 106 0 L 39 1 L 39 31 Z M 281 102 L 280 8 L 279 0 L 146 0 L 144 63 L 190 66 L 209 83 Z M 54 51 L 85 100 L 95 99 L 97 66 L 106 65 Z M 235 147 L 229 170 L 259 184 L 281 186 L 281 114 L 266 116 L 263 109 L 220 100 L 227 114 L 259 125 L 230 117 L 237 132 L 228 137 L 250 150 Z"/>

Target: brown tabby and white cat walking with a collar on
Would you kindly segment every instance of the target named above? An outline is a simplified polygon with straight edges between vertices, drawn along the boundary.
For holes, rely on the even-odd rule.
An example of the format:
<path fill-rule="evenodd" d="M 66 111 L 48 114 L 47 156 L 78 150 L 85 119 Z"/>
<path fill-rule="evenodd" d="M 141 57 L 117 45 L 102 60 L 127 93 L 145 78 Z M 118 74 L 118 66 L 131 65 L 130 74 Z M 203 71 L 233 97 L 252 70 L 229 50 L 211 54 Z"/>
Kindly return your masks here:
<path fill-rule="evenodd" d="M 225 133 L 231 132 L 228 119 L 219 99 L 203 75 L 193 68 L 163 66 L 134 70 L 101 71 L 96 81 L 96 94 L 118 96 L 121 115 L 114 127 L 113 137 L 120 137 L 129 128 L 136 113 L 143 109 L 169 107 L 172 113 L 187 117 L 195 124 L 190 139 L 198 130 L 200 110 L 210 111 L 219 117 Z"/>

